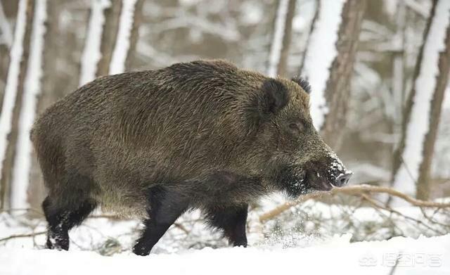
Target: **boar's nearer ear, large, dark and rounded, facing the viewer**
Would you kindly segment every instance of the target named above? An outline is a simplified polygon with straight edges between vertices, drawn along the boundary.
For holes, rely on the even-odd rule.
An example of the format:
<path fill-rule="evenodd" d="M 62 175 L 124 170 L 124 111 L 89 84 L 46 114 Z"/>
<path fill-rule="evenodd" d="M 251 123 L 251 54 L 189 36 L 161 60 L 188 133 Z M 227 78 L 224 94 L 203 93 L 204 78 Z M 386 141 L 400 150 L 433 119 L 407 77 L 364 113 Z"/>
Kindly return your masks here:
<path fill-rule="evenodd" d="M 278 113 L 289 101 L 288 89 L 276 79 L 267 79 L 261 87 L 262 100 L 258 109 L 262 115 Z"/>

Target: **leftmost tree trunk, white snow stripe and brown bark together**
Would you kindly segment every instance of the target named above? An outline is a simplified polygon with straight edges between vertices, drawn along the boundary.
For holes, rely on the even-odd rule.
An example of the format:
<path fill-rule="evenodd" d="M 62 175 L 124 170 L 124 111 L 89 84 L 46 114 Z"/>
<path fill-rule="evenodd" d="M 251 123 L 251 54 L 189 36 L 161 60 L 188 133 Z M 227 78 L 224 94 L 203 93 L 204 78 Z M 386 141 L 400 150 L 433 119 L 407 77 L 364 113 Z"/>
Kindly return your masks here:
<path fill-rule="evenodd" d="M 33 1 L 20 0 L 14 39 L 11 46 L 11 60 L 6 79 L 5 95 L 0 114 L 0 170 L 1 170 L 1 206 L 6 205 L 11 167 L 13 165 L 13 148 L 17 137 L 18 110 L 20 107 L 23 79 L 27 66 L 26 49 L 30 40 Z M 19 104 L 17 104 L 19 102 Z"/>

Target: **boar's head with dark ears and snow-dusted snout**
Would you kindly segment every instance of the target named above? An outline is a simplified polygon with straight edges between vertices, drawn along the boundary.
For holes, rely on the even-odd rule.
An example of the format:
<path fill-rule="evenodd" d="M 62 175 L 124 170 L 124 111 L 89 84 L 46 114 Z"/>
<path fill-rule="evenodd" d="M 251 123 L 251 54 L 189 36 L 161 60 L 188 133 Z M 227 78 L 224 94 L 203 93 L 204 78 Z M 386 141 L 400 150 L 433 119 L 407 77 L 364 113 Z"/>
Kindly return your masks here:
<path fill-rule="evenodd" d="M 288 196 L 330 191 L 347 184 L 352 172 L 323 141 L 309 113 L 309 83 L 301 78 L 266 79 L 252 99 L 264 181 Z M 255 159 L 255 158 L 253 158 Z"/>

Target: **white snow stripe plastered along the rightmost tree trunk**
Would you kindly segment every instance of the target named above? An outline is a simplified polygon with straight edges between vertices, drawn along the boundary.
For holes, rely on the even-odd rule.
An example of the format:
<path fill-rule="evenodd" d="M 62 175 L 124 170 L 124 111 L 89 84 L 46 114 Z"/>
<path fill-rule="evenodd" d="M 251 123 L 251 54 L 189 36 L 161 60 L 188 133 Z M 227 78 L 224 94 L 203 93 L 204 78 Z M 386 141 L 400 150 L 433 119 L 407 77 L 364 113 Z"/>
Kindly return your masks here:
<path fill-rule="evenodd" d="M 450 1 L 437 2 L 430 32 L 426 38 L 420 73 L 415 83 L 411 118 L 406 129 L 403 165 L 394 177 L 394 188 L 409 195 L 416 191 L 418 170 L 422 162 L 423 142 L 429 131 L 430 107 L 439 74 L 439 52 L 445 49 L 446 28 L 450 23 Z"/>

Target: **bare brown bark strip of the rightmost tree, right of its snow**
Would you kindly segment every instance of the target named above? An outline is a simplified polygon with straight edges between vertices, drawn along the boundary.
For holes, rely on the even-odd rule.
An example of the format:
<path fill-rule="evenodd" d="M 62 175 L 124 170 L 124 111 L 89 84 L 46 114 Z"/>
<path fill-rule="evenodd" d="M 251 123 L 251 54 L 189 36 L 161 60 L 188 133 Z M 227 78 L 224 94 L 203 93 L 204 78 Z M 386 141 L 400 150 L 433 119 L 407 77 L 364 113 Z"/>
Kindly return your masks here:
<path fill-rule="evenodd" d="M 430 124 L 428 127 L 428 133 L 425 135 L 425 140 L 423 141 L 423 159 L 419 167 L 419 176 L 416 189 L 416 198 L 419 200 L 428 200 L 430 198 L 430 167 L 433 153 L 435 151 L 437 130 L 439 129 L 439 117 L 441 117 L 444 94 L 449 82 L 450 25 L 447 26 L 445 45 L 445 50 L 439 53 L 439 75 L 437 75 L 437 83 L 432 101 L 430 103 Z"/>

